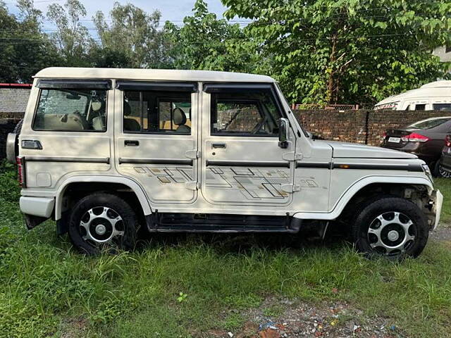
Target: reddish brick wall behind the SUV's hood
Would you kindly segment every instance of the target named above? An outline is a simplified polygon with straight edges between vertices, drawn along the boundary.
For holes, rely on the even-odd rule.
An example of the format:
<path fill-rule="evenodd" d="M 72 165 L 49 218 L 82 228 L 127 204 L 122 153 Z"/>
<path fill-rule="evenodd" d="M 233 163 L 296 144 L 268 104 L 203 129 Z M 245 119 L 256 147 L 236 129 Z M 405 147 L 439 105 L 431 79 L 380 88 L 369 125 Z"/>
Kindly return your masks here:
<path fill-rule="evenodd" d="M 387 129 L 404 127 L 426 118 L 451 116 L 446 111 L 295 111 L 309 132 L 334 141 L 378 146 Z"/>

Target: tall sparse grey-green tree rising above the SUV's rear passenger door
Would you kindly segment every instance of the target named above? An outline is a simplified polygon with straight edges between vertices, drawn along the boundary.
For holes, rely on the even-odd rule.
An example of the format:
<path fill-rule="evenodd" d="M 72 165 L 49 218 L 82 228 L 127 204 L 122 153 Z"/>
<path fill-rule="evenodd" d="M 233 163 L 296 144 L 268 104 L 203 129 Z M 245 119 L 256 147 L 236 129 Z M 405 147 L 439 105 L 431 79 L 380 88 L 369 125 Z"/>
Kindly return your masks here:
<path fill-rule="evenodd" d="M 115 53 L 118 55 L 111 66 L 122 62 L 126 62 L 131 68 L 165 65 L 163 33 L 158 29 L 161 18 L 159 11 L 148 14 L 132 4 L 121 5 L 115 2 L 110 16 L 112 23 L 108 25 L 104 13 L 98 11 L 94 16 L 94 23 L 101 48 L 111 57 Z"/>

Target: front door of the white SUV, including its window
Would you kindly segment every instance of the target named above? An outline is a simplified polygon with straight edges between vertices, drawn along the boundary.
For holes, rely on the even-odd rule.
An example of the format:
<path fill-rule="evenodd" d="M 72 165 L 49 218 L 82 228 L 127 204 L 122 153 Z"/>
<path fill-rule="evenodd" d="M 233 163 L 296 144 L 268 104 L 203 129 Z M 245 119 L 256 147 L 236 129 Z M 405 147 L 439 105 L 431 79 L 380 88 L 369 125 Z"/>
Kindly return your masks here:
<path fill-rule="evenodd" d="M 285 206 L 293 142 L 278 145 L 284 117 L 272 84 L 204 84 L 202 194 L 212 204 Z"/>

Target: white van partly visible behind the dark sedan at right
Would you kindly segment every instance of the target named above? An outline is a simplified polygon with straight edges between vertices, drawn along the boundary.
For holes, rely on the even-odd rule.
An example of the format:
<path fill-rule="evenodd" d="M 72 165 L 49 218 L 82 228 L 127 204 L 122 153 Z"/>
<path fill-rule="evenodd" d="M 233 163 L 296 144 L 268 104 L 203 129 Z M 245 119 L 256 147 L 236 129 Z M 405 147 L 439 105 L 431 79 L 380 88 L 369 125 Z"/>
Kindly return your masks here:
<path fill-rule="evenodd" d="M 382 100 L 374 109 L 393 111 L 451 111 L 451 80 L 424 84 Z"/>

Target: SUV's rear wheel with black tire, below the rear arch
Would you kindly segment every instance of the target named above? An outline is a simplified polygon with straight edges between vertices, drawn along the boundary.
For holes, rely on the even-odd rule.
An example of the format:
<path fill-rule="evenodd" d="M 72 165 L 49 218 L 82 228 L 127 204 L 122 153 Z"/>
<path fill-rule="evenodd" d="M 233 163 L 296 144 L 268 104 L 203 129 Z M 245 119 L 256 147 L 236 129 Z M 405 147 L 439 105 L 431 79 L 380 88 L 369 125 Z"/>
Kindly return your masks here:
<path fill-rule="evenodd" d="M 89 211 L 92 212 L 91 215 Z M 105 213 L 106 216 L 102 217 L 100 213 Z M 111 222 L 118 218 L 121 220 L 113 225 Z M 87 224 L 91 230 L 89 234 L 85 227 L 82 227 L 82 220 L 85 220 L 83 224 Z M 104 233 L 97 234 L 97 227 L 101 227 Z M 113 231 L 116 230 L 123 234 L 113 237 Z M 85 196 L 75 204 L 69 216 L 70 241 L 80 252 L 89 255 L 96 255 L 104 248 L 132 250 L 135 247 L 136 232 L 135 212 L 127 202 L 113 194 L 95 193 Z M 96 242 L 96 239 L 99 239 L 99 242 Z M 103 240 L 110 242 L 100 242 Z"/>

